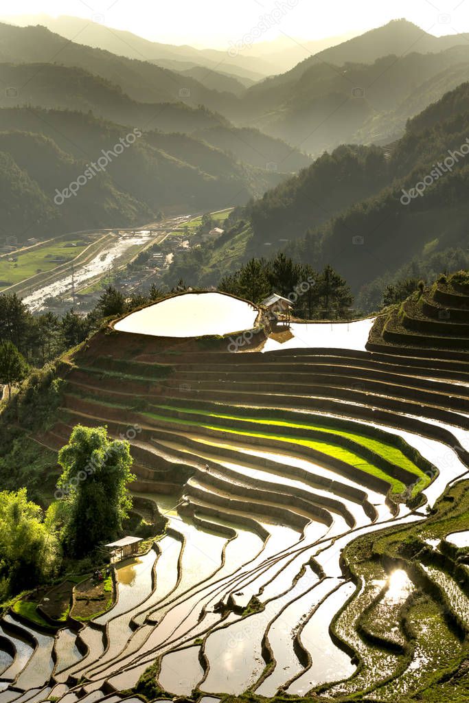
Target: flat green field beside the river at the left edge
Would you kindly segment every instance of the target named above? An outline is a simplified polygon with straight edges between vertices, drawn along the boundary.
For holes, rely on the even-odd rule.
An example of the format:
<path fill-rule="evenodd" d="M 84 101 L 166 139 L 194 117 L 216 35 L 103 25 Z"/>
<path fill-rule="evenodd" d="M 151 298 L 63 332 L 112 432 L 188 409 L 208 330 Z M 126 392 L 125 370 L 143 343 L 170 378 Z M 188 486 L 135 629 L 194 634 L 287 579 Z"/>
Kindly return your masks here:
<path fill-rule="evenodd" d="M 55 257 L 68 261 L 75 259 L 89 244 L 90 240 L 85 240 L 81 237 L 49 244 L 33 249 L 30 252 L 18 254 L 13 257 L 16 259 L 15 261 L 8 261 L 12 257 L 0 259 L 0 290 L 8 288 L 9 285 L 20 283 L 26 278 L 31 278 L 37 273 L 51 271 L 56 266 L 60 266 L 60 263 L 65 263 L 54 261 Z"/>

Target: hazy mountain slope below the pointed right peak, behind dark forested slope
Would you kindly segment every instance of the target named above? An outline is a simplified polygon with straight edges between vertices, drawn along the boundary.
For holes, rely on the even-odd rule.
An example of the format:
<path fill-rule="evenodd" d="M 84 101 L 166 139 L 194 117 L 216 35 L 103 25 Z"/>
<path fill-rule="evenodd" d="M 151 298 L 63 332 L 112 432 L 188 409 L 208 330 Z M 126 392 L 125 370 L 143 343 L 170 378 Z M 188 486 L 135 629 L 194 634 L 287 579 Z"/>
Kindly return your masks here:
<path fill-rule="evenodd" d="M 318 155 L 347 141 L 370 143 L 376 134 L 394 138 L 406 119 L 428 105 L 425 100 L 454 86 L 439 84 L 438 77 L 456 67 L 456 82 L 469 78 L 469 44 L 442 53 L 383 56 L 373 64 L 320 63 L 297 82 L 253 86 L 244 100 L 257 127 Z M 432 80 L 430 93 L 414 103 L 416 91 Z"/>

